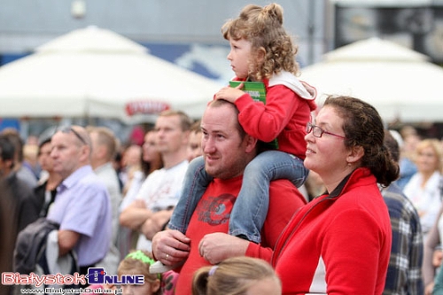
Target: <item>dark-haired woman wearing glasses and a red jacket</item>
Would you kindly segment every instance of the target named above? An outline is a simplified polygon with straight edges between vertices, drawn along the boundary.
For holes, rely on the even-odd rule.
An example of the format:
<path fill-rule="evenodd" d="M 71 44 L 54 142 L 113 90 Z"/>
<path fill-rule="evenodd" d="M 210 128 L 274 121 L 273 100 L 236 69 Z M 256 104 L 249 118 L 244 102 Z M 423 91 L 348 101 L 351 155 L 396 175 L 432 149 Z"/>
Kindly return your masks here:
<path fill-rule="evenodd" d="M 392 237 L 377 182 L 399 175 L 383 122 L 360 99 L 328 97 L 305 140 L 305 166 L 328 192 L 294 214 L 276 245 L 283 294 L 382 294 Z"/>

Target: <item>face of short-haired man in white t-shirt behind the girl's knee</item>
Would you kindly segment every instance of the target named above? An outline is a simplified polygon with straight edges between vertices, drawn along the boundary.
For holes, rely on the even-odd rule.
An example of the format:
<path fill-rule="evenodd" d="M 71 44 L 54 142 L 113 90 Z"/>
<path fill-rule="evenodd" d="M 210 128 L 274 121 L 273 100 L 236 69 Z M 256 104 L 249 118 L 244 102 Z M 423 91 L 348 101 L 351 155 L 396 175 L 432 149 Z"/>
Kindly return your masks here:
<path fill-rule="evenodd" d="M 175 153 L 188 144 L 189 132 L 180 126 L 178 115 L 161 116 L 155 123 L 157 150 L 162 154 Z"/>

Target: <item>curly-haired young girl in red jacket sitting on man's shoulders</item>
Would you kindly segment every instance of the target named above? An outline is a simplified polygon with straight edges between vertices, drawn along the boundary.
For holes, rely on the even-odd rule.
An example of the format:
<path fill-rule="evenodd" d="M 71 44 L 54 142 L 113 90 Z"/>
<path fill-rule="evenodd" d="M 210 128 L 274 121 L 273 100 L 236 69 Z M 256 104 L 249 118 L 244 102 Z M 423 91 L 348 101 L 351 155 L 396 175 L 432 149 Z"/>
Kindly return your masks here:
<path fill-rule="evenodd" d="M 214 99 L 234 103 L 238 120 L 245 132 L 264 143 L 276 139 L 277 149 L 265 148 L 246 167 L 243 186 L 229 220 L 229 234 L 260 243 L 260 230 L 268 213 L 269 182 L 289 179 L 297 187 L 305 182 L 308 170 L 305 159 L 306 125 L 315 110 L 315 89 L 297 78 L 299 66 L 295 60 L 297 47 L 283 27 L 283 9 L 279 4 L 260 7 L 249 4 L 237 19 L 221 27 L 229 41 L 228 60 L 236 74 L 235 81 L 262 82 L 266 103 L 257 102 L 243 91 L 224 87 Z M 203 136 L 206 136 L 203 133 Z M 208 151 L 203 151 L 206 157 Z M 186 232 L 189 212 L 197 206 L 211 177 L 206 175 L 204 159 L 190 163 L 183 183 L 183 195 L 169 229 Z"/>

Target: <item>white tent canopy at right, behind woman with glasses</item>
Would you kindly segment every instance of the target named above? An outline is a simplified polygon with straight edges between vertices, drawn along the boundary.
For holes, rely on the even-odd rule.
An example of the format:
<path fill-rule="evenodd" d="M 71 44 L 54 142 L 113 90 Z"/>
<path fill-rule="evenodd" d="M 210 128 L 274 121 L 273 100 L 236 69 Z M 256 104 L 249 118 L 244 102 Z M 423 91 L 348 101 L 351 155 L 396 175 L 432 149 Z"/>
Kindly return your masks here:
<path fill-rule="evenodd" d="M 300 79 L 325 95 L 361 98 L 389 122 L 443 121 L 443 68 L 414 50 L 378 38 L 332 50 L 301 69 Z"/>

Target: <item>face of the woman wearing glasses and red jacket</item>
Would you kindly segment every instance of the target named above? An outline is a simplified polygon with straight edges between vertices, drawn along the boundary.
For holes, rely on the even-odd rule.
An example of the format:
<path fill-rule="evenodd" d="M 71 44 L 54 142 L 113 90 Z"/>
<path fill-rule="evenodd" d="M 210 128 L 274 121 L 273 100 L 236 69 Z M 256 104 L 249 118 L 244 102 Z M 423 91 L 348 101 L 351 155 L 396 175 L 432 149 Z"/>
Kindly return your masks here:
<path fill-rule="evenodd" d="M 345 136 L 342 128 L 343 119 L 332 106 L 324 106 L 313 124 L 324 131 Z M 338 136 L 323 133 L 322 137 L 318 138 L 312 131 L 305 136 L 307 141 L 305 167 L 315 171 L 324 182 L 341 181 L 344 174 L 349 173 L 346 159 L 350 152 L 345 147 L 345 139 Z"/>

